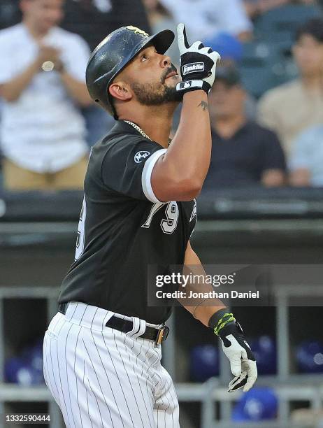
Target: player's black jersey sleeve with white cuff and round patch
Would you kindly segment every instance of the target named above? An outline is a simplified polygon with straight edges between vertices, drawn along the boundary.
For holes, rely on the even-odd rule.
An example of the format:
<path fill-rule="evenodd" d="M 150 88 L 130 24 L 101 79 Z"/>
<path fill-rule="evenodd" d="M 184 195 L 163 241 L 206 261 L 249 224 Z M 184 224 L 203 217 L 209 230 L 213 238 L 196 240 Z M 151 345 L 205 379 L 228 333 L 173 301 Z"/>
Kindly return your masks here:
<path fill-rule="evenodd" d="M 124 138 L 113 144 L 103 158 L 104 185 L 127 197 L 160 202 L 152 190 L 151 176 L 157 160 L 165 152 L 157 143 Z"/>

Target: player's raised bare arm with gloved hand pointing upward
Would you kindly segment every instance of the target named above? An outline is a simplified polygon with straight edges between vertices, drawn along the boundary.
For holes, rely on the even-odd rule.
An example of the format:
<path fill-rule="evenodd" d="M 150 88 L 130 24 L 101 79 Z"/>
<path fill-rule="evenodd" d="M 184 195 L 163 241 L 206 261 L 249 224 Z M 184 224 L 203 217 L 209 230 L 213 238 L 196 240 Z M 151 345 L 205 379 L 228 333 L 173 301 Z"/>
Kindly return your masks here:
<path fill-rule="evenodd" d="M 185 27 L 178 25 L 182 92 L 180 124 L 171 147 L 158 159 L 151 183 L 159 201 L 190 201 L 201 191 L 210 165 L 211 133 L 207 94 L 213 85 L 220 55 L 201 42 L 191 46 Z M 201 69 L 201 71 L 196 71 Z"/>

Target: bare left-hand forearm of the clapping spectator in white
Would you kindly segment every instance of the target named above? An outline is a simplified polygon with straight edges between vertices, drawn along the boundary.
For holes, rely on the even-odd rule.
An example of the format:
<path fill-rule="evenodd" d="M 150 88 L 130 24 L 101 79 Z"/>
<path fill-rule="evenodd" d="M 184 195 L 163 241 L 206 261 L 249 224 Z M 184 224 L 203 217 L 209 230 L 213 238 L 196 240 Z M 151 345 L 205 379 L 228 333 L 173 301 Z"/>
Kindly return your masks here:
<path fill-rule="evenodd" d="M 16 101 L 22 92 L 31 82 L 31 79 L 39 71 L 40 64 L 38 60 L 31 63 L 27 69 L 25 69 L 19 76 L 13 78 L 8 83 L 0 85 L 0 95 L 6 101 L 13 102 Z"/>

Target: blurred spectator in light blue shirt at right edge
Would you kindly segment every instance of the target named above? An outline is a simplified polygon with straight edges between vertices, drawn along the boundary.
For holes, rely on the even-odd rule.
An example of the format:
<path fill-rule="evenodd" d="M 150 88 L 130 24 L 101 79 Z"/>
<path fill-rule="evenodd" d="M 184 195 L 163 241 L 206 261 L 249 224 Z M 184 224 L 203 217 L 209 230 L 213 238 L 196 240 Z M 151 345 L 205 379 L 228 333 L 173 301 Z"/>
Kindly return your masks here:
<path fill-rule="evenodd" d="M 323 124 L 306 129 L 296 138 L 288 166 L 292 185 L 323 186 Z"/>

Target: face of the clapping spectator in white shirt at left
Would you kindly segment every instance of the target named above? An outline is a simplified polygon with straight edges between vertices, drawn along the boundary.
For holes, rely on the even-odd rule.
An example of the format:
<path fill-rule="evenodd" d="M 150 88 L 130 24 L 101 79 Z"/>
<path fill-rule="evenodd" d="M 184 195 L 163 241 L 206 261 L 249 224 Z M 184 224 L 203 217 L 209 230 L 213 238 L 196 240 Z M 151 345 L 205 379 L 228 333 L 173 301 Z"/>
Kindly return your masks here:
<path fill-rule="evenodd" d="M 25 17 L 40 31 L 48 31 L 62 20 L 64 0 L 22 0 Z"/>

